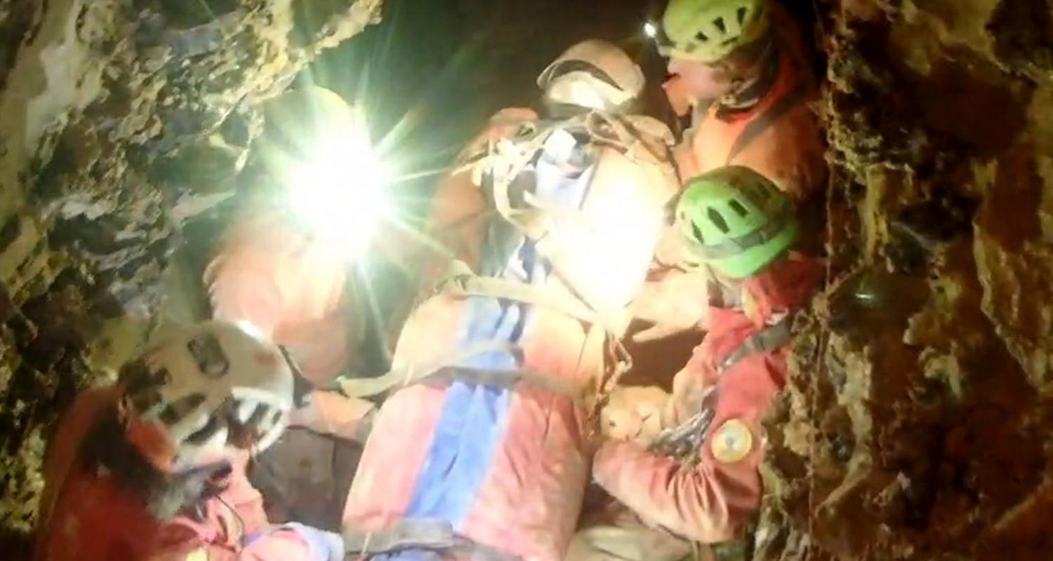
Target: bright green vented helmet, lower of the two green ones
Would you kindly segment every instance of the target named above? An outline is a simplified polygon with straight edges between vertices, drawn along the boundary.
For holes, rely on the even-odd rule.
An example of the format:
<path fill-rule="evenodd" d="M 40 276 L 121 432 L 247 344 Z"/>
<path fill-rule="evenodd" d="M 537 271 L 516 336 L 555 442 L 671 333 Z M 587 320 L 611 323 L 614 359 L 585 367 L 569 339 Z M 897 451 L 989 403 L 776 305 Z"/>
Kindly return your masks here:
<path fill-rule="evenodd" d="M 757 273 L 797 240 L 790 199 L 768 178 L 739 165 L 692 179 L 676 220 L 698 257 L 733 279 Z"/>

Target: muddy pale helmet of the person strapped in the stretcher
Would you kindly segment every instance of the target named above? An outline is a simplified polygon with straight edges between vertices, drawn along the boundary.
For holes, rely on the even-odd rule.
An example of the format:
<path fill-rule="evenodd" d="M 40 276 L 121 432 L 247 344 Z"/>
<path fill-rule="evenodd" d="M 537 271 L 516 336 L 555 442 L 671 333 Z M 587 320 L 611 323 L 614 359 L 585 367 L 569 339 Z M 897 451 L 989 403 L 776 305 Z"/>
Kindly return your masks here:
<path fill-rule="evenodd" d="M 624 51 L 590 39 L 568 48 L 537 78 L 551 105 L 620 112 L 643 91 L 643 72 Z"/>

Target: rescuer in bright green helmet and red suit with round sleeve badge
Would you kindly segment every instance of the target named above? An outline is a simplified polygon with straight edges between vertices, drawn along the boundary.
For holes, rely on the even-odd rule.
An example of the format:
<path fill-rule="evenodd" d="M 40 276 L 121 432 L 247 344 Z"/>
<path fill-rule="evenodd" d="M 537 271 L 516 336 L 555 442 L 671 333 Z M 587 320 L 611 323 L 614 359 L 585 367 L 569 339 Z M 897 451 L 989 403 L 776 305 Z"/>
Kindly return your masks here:
<path fill-rule="evenodd" d="M 668 418 L 677 426 L 650 447 L 602 444 L 593 476 L 652 527 L 716 543 L 735 538 L 759 506 L 760 421 L 786 382 L 794 313 L 822 269 L 791 251 L 790 199 L 747 167 L 691 180 L 676 220 L 723 286 L 709 293 L 708 333 L 676 375 Z"/>

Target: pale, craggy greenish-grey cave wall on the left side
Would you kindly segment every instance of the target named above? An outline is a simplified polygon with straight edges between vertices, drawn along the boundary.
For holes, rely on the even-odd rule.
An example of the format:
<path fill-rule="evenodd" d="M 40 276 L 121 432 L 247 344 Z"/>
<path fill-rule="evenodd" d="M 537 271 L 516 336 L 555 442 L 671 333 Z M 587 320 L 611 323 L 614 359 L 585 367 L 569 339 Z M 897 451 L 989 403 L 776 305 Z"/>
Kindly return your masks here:
<path fill-rule="evenodd" d="M 0 550 L 44 442 L 163 314 L 168 258 L 233 188 L 257 104 L 380 0 L 0 0 Z"/>

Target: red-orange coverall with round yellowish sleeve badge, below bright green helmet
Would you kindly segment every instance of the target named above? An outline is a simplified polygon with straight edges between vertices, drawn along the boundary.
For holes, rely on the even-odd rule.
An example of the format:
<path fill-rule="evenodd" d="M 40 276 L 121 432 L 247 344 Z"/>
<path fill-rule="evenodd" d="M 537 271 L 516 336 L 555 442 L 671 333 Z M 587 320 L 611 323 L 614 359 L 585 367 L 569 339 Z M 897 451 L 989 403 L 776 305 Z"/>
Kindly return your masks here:
<path fill-rule="evenodd" d="M 740 308 L 711 307 L 709 333 L 677 375 L 696 378 L 695 387 L 716 384 L 715 416 L 696 466 L 632 442 L 609 441 L 594 460 L 597 483 L 649 525 L 704 543 L 734 538 L 760 504 L 760 421 L 786 381 L 787 349 L 748 355 L 722 373 L 717 365 L 769 320 L 803 305 L 821 275 L 816 261 L 790 254 L 742 281 L 743 294 L 753 302 L 749 315 Z M 737 436 L 750 447 L 729 461 L 720 439 L 743 426 L 749 434 Z"/>

